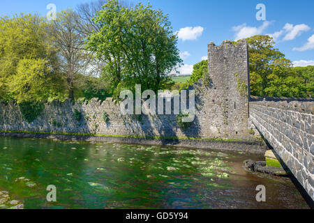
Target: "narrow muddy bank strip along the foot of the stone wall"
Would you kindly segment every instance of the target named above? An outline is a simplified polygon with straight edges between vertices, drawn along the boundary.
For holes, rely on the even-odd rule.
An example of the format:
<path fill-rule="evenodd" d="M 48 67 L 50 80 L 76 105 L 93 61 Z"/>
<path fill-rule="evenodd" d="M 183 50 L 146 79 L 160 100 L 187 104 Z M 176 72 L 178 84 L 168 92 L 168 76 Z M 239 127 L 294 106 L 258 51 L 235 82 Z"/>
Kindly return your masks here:
<path fill-rule="evenodd" d="M 239 139 L 201 139 L 184 137 L 134 137 L 105 134 L 71 134 L 48 132 L 5 132 L 0 137 L 21 137 L 35 139 L 71 140 L 125 143 L 139 145 L 174 146 L 186 148 L 218 149 L 222 151 L 241 151 L 248 153 L 265 153 L 267 146 L 262 141 L 245 141 Z"/>

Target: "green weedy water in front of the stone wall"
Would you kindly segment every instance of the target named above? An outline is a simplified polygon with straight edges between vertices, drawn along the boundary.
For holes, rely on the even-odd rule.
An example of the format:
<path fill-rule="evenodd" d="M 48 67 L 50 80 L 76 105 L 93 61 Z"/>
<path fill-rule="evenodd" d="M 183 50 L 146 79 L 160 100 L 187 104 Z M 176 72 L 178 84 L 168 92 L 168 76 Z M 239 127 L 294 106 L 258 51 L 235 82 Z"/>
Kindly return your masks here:
<path fill-rule="evenodd" d="M 0 137 L 0 192 L 24 208 L 308 208 L 290 178 L 246 172 L 248 158 L 264 159 L 196 148 Z M 57 187 L 56 202 L 47 201 L 47 185 Z M 255 200 L 257 185 L 266 187 L 266 202 Z M 0 208 L 12 207 L 0 199 Z"/>

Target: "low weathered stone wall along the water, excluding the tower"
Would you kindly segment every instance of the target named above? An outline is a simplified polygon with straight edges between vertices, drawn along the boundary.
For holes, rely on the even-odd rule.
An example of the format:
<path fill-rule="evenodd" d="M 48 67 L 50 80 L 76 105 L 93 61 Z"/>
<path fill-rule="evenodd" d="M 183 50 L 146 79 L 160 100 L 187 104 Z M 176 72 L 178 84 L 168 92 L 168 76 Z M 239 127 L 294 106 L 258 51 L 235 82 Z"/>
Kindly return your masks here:
<path fill-rule="evenodd" d="M 82 114 L 80 121 L 75 120 L 75 109 Z M 106 112 L 109 121 L 103 120 Z M 11 101 L 0 105 L 0 130 L 27 132 L 60 132 L 107 134 L 118 136 L 165 136 L 185 137 L 176 124 L 176 116 L 163 115 L 122 115 L 119 102 L 108 98 L 104 102 L 92 99 L 89 102 L 53 101 L 45 105 L 43 112 L 32 123 L 22 118 L 18 105 Z M 193 134 L 195 132 L 195 134 Z M 189 130 L 189 135 L 196 135 L 196 128 Z"/>

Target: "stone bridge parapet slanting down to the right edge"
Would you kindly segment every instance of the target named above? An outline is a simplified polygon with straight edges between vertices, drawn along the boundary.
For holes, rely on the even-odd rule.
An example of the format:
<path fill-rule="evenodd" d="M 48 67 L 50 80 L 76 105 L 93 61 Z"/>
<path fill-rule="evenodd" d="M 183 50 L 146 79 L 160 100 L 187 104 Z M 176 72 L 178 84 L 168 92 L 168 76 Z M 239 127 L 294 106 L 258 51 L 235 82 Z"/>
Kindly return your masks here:
<path fill-rule="evenodd" d="M 250 102 L 250 119 L 314 200 L 314 100 Z"/>

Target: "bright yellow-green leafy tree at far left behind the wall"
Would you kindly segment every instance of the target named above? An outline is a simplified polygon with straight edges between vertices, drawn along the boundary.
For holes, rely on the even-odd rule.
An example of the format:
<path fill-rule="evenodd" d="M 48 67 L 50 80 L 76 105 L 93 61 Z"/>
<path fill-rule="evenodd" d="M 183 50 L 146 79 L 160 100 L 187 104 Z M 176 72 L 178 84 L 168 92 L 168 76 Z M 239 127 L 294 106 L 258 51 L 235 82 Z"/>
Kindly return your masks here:
<path fill-rule="evenodd" d="M 61 94 L 56 51 L 38 15 L 0 18 L 0 99 L 45 100 Z"/>

